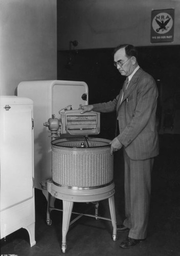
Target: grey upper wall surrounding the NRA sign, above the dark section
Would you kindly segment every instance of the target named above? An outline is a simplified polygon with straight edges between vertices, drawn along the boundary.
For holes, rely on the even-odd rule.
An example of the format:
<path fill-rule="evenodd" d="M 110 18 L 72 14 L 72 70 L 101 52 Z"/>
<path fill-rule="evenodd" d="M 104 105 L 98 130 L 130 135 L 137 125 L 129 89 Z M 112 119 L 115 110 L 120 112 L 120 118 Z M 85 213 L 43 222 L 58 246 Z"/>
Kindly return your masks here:
<path fill-rule="evenodd" d="M 174 41 L 150 42 L 151 10 L 175 10 Z M 180 44 L 179 0 L 58 0 L 58 50 Z"/>

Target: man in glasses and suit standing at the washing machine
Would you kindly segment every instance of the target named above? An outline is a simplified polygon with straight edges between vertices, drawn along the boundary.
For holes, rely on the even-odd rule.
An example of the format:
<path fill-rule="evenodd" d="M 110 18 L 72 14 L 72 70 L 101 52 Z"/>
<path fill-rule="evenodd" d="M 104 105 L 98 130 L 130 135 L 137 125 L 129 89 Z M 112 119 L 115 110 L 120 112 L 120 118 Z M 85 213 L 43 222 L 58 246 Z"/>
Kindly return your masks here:
<path fill-rule="evenodd" d="M 125 215 L 119 232 L 128 232 L 122 248 L 130 248 L 146 239 L 151 191 L 151 170 L 159 154 L 156 131 L 158 89 L 155 81 L 138 65 L 138 53 L 132 45 L 114 50 L 114 65 L 126 76 L 123 89 L 113 100 L 82 106 L 82 112 L 117 111 L 119 133 L 111 142 L 110 152 L 123 148 L 125 172 Z"/>

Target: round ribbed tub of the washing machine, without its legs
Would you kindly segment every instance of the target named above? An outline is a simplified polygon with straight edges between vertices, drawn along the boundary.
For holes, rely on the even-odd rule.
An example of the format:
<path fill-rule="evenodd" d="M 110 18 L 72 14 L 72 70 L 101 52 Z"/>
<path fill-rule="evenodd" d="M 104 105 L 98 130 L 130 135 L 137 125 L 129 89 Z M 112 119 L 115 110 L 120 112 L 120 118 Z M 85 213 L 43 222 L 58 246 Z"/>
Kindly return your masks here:
<path fill-rule="evenodd" d="M 109 140 L 65 138 L 52 141 L 52 179 L 65 187 L 95 188 L 113 182 Z M 81 147 L 81 143 L 85 147 Z"/>

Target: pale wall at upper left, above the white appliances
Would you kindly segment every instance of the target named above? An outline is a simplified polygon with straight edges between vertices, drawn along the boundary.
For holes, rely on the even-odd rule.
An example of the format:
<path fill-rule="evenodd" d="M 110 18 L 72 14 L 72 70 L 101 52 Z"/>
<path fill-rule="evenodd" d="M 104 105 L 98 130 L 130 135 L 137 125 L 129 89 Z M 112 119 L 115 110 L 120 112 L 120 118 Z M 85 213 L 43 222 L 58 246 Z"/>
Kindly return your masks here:
<path fill-rule="evenodd" d="M 19 82 L 57 78 L 56 0 L 1 0 L 1 95 Z"/>

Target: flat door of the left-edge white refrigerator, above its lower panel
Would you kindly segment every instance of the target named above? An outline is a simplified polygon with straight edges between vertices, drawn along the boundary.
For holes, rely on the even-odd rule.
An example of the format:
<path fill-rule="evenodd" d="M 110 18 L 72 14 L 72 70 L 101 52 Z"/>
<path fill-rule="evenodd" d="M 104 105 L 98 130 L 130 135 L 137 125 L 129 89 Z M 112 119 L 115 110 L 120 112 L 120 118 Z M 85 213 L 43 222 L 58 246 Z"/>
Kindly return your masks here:
<path fill-rule="evenodd" d="M 33 197 L 32 114 L 32 100 L 1 97 L 1 210 Z"/>

